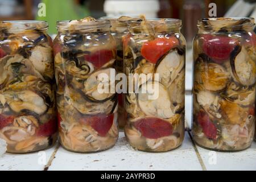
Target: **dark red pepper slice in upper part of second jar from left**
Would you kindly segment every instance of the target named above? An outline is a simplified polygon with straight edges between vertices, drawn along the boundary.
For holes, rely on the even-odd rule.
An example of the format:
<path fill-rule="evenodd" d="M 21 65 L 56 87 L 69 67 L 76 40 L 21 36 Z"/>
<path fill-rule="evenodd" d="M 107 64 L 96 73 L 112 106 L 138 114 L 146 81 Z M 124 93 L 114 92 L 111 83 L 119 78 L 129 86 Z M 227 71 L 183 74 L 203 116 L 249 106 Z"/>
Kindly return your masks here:
<path fill-rule="evenodd" d="M 84 56 L 86 61 L 89 61 L 96 68 L 101 68 L 104 64 L 114 59 L 113 51 L 108 49 L 101 49 L 94 53 Z"/>

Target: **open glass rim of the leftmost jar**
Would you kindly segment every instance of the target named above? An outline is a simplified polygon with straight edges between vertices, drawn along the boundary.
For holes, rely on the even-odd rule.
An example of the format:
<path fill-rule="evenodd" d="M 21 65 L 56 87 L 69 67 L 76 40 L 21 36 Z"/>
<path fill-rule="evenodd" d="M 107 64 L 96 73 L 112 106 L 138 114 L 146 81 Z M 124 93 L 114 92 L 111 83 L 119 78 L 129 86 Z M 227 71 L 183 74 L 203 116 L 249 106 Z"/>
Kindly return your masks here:
<path fill-rule="evenodd" d="M 26 27 L 20 27 L 20 29 L 24 30 L 47 30 L 48 23 L 43 20 L 5 20 L 0 22 L 0 27 L 8 27 L 10 24 L 24 24 Z"/>

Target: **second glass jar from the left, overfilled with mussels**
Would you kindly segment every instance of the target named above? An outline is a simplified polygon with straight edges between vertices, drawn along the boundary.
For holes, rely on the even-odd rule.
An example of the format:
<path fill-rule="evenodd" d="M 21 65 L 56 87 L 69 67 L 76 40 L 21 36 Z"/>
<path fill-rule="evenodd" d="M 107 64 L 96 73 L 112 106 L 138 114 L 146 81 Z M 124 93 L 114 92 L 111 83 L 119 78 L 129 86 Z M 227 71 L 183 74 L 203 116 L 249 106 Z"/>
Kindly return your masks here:
<path fill-rule="evenodd" d="M 59 141 L 74 152 L 106 150 L 118 138 L 118 100 L 112 77 L 116 45 L 110 22 L 91 17 L 61 21 L 57 30 L 53 47 Z"/>

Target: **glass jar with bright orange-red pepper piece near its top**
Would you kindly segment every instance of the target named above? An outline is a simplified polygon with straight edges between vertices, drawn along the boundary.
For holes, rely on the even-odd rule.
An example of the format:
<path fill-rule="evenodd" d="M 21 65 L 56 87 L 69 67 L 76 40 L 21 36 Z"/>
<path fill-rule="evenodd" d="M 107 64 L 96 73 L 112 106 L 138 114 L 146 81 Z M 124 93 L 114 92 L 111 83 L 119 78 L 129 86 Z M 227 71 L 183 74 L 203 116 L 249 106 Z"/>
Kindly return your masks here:
<path fill-rule="evenodd" d="M 137 150 L 174 150 L 184 139 L 185 39 L 180 33 L 181 20 L 129 24 L 130 34 L 123 42 L 128 76 L 126 138 Z"/>

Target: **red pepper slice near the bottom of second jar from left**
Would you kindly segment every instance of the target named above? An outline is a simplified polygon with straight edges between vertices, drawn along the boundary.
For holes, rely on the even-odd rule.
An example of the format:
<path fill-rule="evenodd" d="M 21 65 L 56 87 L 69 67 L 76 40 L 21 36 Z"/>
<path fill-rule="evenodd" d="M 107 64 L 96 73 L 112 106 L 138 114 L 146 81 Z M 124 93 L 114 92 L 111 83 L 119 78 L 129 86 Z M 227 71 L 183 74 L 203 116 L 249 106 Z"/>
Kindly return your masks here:
<path fill-rule="evenodd" d="M 113 125 L 114 114 L 106 115 L 99 114 L 95 116 L 81 118 L 82 123 L 92 126 L 101 137 L 105 137 L 108 134 L 110 128 Z"/>

